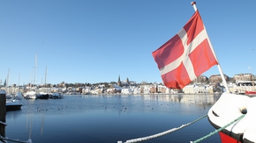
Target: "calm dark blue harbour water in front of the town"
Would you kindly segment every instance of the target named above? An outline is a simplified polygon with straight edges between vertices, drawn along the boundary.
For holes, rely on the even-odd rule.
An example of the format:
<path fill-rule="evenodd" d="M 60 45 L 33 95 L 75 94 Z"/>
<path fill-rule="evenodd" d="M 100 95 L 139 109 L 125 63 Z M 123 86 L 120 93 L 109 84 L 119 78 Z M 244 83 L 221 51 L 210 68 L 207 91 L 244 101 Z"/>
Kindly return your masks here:
<path fill-rule="evenodd" d="M 5 136 L 34 143 L 117 143 L 164 132 L 207 114 L 219 96 L 116 95 L 65 96 L 26 100 L 22 110 L 8 111 Z M 184 143 L 215 129 L 207 118 L 177 132 L 144 141 Z M 9 141 L 11 142 L 11 141 Z M 202 142 L 220 142 L 218 134 Z"/>

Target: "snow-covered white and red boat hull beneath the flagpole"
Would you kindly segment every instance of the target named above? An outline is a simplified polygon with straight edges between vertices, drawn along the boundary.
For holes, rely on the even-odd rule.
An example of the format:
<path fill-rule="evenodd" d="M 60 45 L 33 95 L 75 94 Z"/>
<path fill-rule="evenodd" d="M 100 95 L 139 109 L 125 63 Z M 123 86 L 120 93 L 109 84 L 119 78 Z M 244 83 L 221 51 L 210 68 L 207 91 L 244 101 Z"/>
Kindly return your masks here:
<path fill-rule="evenodd" d="M 222 139 L 222 143 L 231 142 L 231 139 L 244 143 L 256 142 L 256 97 L 223 93 L 222 97 L 208 111 L 209 122 L 216 129 L 228 125 L 243 114 L 246 114 L 245 118 L 222 130 L 221 139 L 225 138 L 226 140 Z"/>

